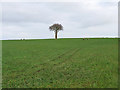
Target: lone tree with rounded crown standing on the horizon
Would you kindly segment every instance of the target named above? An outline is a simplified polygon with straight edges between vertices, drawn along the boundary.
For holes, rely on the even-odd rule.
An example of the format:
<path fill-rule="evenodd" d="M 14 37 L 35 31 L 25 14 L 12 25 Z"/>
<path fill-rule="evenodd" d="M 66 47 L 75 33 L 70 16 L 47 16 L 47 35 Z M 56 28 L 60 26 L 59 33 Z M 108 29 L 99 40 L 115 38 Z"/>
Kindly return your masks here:
<path fill-rule="evenodd" d="M 61 24 L 53 24 L 52 26 L 49 27 L 50 31 L 55 32 L 55 39 L 57 39 L 57 33 L 60 30 L 63 30 L 63 26 Z"/>

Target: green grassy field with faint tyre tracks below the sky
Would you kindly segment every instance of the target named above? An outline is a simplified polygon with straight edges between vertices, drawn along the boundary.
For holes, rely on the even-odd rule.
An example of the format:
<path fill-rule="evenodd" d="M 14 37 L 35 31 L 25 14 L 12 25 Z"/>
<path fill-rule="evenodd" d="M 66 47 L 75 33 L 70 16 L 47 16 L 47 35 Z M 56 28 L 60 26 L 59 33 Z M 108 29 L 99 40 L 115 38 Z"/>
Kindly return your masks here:
<path fill-rule="evenodd" d="M 3 88 L 117 88 L 118 39 L 2 41 Z"/>

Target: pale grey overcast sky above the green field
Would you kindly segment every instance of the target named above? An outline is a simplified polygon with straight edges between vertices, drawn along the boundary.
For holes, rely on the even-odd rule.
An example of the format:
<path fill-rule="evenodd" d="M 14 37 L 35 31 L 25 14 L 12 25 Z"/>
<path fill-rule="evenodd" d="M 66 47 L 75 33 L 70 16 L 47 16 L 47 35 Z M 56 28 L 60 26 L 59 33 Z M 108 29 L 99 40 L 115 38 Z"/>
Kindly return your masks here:
<path fill-rule="evenodd" d="M 117 37 L 118 0 L 8 2 L 0 5 L 0 39 L 54 38 L 49 26 L 60 23 L 58 38 Z"/>

